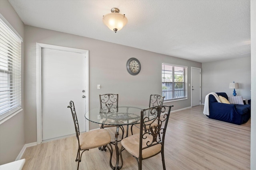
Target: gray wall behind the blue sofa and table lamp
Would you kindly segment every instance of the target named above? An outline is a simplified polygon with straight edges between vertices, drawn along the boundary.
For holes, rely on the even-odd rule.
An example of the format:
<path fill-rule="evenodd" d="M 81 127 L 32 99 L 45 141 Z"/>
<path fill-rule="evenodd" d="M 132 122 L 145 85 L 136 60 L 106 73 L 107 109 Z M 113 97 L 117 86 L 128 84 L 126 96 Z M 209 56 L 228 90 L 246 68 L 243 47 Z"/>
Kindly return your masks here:
<path fill-rule="evenodd" d="M 233 96 L 228 88 L 231 82 L 239 83 L 236 96 L 251 99 L 251 57 L 202 63 L 202 103 L 210 92 L 226 92 Z"/>

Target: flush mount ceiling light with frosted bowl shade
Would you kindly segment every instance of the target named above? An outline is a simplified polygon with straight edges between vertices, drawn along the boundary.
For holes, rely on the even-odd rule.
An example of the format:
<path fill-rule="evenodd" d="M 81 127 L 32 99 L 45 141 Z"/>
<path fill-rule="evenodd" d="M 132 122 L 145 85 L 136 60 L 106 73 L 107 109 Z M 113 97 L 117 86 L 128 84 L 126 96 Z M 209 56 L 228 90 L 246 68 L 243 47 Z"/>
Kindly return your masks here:
<path fill-rule="evenodd" d="M 118 8 L 112 8 L 112 13 L 103 16 L 103 23 L 115 33 L 120 31 L 128 21 L 124 14 L 119 14 L 119 11 Z"/>

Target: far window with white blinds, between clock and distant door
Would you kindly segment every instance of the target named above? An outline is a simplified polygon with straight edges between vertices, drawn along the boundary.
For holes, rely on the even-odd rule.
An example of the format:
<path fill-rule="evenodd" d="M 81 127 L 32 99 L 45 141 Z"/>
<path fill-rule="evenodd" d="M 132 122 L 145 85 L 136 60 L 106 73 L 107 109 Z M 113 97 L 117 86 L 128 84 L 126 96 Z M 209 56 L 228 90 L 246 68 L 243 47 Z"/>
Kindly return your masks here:
<path fill-rule="evenodd" d="M 162 96 L 164 100 L 185 99 L 188 67 L 162 63 Z"/>

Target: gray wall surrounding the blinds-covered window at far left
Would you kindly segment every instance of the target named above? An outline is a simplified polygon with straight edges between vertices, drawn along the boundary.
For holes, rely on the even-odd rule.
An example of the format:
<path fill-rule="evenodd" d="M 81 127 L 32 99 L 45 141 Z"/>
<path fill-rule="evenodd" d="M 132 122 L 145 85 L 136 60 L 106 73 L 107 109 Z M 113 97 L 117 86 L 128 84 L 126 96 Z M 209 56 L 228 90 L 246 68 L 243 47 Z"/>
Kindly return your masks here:
<path fill-rule="evenodd" d="M 24 109 L 24 24 L 7 0 L 0 0 L 0 13 L 23 39 L 22 108 Z M 0 125 L 0 164 L 14 161 L 25 145 L 24 110 Z"/>

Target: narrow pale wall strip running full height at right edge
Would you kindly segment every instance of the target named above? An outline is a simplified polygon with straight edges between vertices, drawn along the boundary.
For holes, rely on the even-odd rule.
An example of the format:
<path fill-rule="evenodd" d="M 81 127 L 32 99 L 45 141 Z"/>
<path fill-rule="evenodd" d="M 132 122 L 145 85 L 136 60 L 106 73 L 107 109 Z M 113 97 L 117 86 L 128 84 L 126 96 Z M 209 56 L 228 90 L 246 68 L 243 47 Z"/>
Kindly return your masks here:
<path fill-rule="evenodd" d="M 256 170 L 256 1 L 251 0 L 251 66 L 252 66 L 252 104 L 251 104 L 251 170 Z"/>

